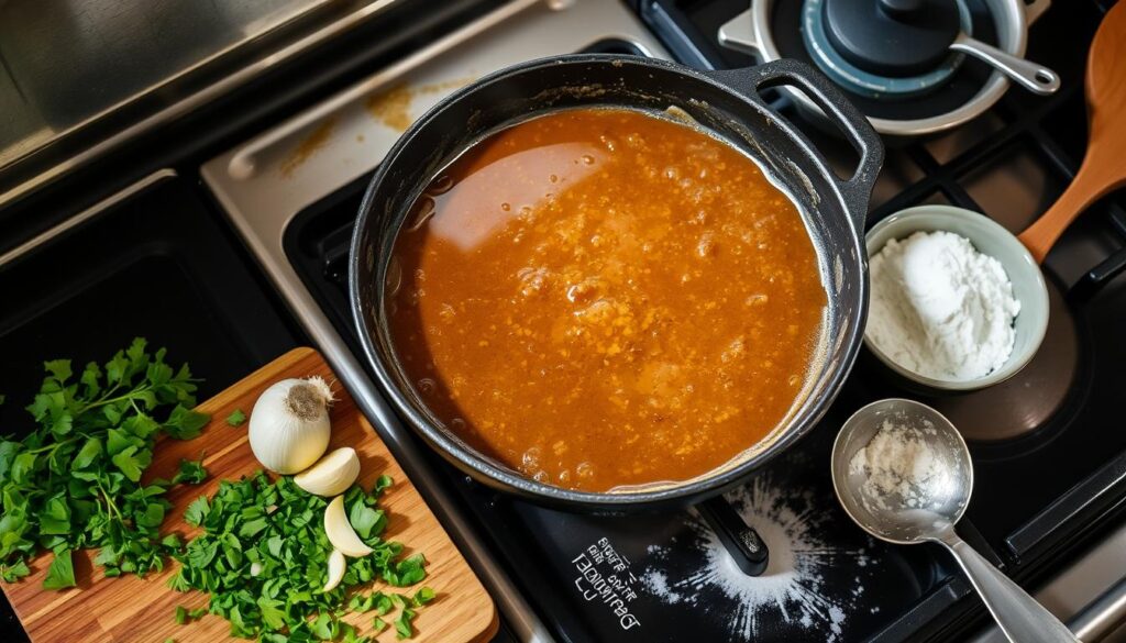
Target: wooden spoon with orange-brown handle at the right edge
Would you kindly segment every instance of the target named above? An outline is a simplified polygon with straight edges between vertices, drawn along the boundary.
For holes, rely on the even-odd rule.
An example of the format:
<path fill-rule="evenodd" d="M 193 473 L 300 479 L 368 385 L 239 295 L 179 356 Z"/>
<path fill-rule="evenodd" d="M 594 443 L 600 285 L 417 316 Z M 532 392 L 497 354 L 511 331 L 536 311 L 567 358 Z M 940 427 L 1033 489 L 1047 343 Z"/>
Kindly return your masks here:
<path fill-rule="evenodd" d="M 1083 164 L 1060 199 L 1019 236 L 1039 262 L 1079 213 L 1126 185 L 1126 2 L 1107 11 L 1094 34 L 1087 105 L 1090 133 Z"/>

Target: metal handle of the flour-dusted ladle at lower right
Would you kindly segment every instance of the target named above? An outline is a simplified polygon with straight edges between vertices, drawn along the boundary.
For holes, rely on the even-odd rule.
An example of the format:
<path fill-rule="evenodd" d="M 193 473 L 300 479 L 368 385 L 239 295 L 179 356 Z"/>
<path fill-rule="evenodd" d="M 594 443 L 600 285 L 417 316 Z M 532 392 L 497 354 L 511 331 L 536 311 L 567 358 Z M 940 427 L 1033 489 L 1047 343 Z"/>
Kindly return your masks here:
<path fill-rule="evenodd" d="M 939 541 L 954 554 L 1001 632 L 1013 643 L 1078 643 L 1079 638 L 1020 586 L 1009 580 L 954 529 Z"/>

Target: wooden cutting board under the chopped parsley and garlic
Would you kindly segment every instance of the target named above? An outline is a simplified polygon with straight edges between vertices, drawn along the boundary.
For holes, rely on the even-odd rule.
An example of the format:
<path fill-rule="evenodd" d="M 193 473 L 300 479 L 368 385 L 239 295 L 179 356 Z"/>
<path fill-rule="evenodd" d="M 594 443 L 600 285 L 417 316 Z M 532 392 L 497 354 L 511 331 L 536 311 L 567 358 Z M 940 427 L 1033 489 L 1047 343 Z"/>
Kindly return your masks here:
<path fill-rule="evenodd" d="M 360 458 L 359 482 L 365 488 L 370 489 L 382 474 L 394 480 L 379 502 L 388 513 L 386 537 L 405 545 L 403 555 L 422 552 L 428 561 L 423 584 L 434 588 L 437 598 L 419 610 L 413 620 L 415 634 L 412 641 L 491 638 L 498 627 L 492 599 L 324 358 L 310 348 L 283 355 L 200 404 L 198 410 L 211 413 L 212 421 L 198 438 L 188 441 L 166 439 L 158 444 L 146 479 L 171 479 L 181 458 L 197 459 L 200 455 L 209 473 L 202 484 L 176 485 L 169 490 L 168 499 L 175 508 L 169 511 L 162 533 L 177 532 L 185 539 L 195 536 L 198 529 L 184 523 L 184 510 L 188 503 L 199 495 L 211 497 L 220 480 L 238 480 L 260 468 L 250 452 L 247 425 L 230 427 L 226 417 L 235 409 L 249 414 L 258 395 L 270 384 L 286 377 L 310 375 L 324 377 L 338 400 L 331 411 L 332 441 L 329 448 L 350 446 L 356 449 Z M 161 643 L 169 637 L 177 643 L 244 641 L 232 638 L 226 620 L 209 614 L 187 625 L 176 624 L 176 606 L 182 605 L 188 609 L 204 607 L 207 597 L 168 588 L 168 579 L 178 569 L 175 561 L 168 561 L 162 573 L 149 574 L 144 579 L 135 575 L 104 578 L 93 570 L 91 561 L 95 554 L 93 551 L 74 554 L 78 588 L 64 591 L 42 588 L 50 564 L 48 555 L 36 559 L 32 563 L 32 575 L 20 582 L 0 583 L 34 643 Z M 377 581 L 373 587 L 387 589 L 382 586 Z M 413 591 L 413 588 L 399 591 Z M 360 634 L 370 634 L 372 617 L 373 613 L 352 614 L 346 620 L 356 625 Z M 377 640 L 394 641 L 394 628 L 388 627 Z"/>

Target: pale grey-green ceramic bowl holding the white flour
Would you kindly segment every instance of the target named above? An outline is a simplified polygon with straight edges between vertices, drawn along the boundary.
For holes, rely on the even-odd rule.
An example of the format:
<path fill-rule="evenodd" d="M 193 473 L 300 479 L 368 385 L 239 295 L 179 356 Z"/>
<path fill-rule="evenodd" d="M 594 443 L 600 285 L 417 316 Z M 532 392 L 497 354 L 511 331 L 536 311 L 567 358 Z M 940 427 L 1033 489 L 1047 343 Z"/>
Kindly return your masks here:
<path fill-rule="evenodd" d="M 867 333 L 865 333 L 864 343 L 896 375 L 927 390 L 976 391 L 1004 382 L 1020 372 L 1033 359 L 1048 328 L 1048 289 L 1044 284 L 1040 267 L 1025 245 L 993 220 L 976 212 L 946 205 L 911 207 L 874 225 L 865 235 L 868 257 L 879 252 L 892 239 L 905 239 L 918 231 L 933 232 L 938 230 L 965 236 L 978 252 L 1000 261 L 1009 275 L 1009 280 L 1012 282 L 1012 294 L 1020 302 L 1020 313 L 1013 320 L 1017 337 L 1009 360 L 1001 368 L 976 379 L 936 379 L 914 373 L 893 361 L 875 346 Z"/>

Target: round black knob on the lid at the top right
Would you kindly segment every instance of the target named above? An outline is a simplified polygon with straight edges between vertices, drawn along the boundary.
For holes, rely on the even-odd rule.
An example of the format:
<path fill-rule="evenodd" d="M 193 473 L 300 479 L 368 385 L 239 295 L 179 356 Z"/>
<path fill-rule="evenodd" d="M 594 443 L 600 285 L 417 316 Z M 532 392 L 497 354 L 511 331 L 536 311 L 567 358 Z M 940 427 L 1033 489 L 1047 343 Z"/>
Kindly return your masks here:
<path fill-rule="evenodd" d="M 887 77 L 931 71 L 960 30 L 957 0 L 824 0 L 824 23 L 841 56 Z"/>

